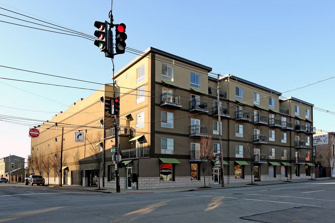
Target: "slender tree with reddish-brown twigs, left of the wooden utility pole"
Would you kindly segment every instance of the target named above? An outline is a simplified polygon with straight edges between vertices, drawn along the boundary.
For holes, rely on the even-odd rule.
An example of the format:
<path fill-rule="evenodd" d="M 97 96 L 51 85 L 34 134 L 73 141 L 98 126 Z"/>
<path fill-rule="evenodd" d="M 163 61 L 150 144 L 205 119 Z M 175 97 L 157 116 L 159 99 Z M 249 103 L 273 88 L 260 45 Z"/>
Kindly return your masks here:
<path fill-rule="evenodd" d="M 213 158 L 213 147 L 212 147 L 212 136 L 201 136 L 200 148 L 199 148 L 199 159 L 200 169 L 204 176 L 204 187 L 206 187 L 205 171 L 208 165 L 211 163 Z"/>

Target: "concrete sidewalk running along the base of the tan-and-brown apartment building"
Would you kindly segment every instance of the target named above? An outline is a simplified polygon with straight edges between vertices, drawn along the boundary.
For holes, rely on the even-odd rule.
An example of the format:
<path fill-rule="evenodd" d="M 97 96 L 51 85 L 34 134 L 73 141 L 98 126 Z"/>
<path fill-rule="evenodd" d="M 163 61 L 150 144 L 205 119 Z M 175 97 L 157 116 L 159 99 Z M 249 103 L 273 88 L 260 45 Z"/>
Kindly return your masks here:
<path fill-rule="evenodd" d="M 299 183 L 299 182 L 306 182 L 306 183 L 312 183 L 312 182 L 318 182 L 318 181 L 324 181 L 324 180 L 335 180 L 335 178 L 329 178 L 329 177 L 321 177 L 321 178 L 313 178 L 313 180 L 310 179 L 289 179 L 289 183 L 284 182 L 286 180 L 279 180 L 279 181 L 256 181 L 253 182 L 257 185 L 248 185 L 251 182 L 244 182 L 244 183 L 232 183 L 232 184 L 225 184 L 225 187 L 221 187 L 221 184 L 215 184 L 215 185 L 206 185 L 207 189 L 201 189 L 201 186 L 195 186 L 195 187 L 177 187 L 177 188 L 162 188 L 162 189 L 149 189 L 149 190 L 129 190 L 129 189 L 122 189 L 121 193 L 169 193 L 169 192 L 180 192 L 180 191 L 199 191 L 199 190 L 213 190 L 213 189 L 224 189 L 224 188 L 239 188 L 239 187 L 257 187 L 262 185 L 274 185 L 274 184 L 290 184 L 290 183 Z M 48 186 L 48 185 L 46 185 Z M 60 188 L 60 186 L 57 185 L 49 185 L 49 187 L 57 187 Z M 103 188 L 100 187 L 100 191 L 97 190 L 97 187 L 83 187 L 83 186 L 75 186 L 75 185 L 63 185 L 62 188 L 66 189 L 73 189 L 73 190 L 80 190 L 80 191 L 91 191 L 91 192 L 101 192 L 101 193 L 116 193 L 115 188 Z"/>

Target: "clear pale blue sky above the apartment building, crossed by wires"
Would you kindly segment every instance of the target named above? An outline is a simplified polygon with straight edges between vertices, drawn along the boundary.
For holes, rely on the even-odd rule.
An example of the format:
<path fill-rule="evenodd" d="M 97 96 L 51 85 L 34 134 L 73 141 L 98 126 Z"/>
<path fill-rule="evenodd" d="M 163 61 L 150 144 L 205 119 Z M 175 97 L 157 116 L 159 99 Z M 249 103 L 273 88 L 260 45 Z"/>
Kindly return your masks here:
<path fill-rule="evenodd" d="M 0 7 L 93 35 L 94 21 L 108 20 L 111 1 L 17 0 L 0 1 Z M 284 92 L 334 75 L 334 8 L 334 1 L 114 0 L 113 16 L 114 23 L 123 22 L 127 26 L 127 46 L 141 51 L 156 47 L 212 67 L 214 73 L 229 73 Z M 0 14 L 34 21 L 3 9 Z M 43 28 L 3 15 L 1 21 Z M 93 41 L 4 22 L 0 22 L 0 28 L 1 66 L 111 83 L 112 69 L 101 72 L 103 66 L 112 68 L 111 60 L 104 57 Z M 135 57 L 129 52 L 117 55 L 115 71 Z M 101 87 L 3 67 L 0 77 L 91 89 Z M 335 111 L 334 82 L 335 79 L 329 79 L 283 96 Z M 92 93 L 0 79 L 0 114 L 50 120 Z M 314 110 L 313 125 L 334 131 L 333 118 L 333 114 Z M 26 157 L 30 153 L 29 126 L 4 121 L 0 126 L 0 157 L 9 153 Z"/>

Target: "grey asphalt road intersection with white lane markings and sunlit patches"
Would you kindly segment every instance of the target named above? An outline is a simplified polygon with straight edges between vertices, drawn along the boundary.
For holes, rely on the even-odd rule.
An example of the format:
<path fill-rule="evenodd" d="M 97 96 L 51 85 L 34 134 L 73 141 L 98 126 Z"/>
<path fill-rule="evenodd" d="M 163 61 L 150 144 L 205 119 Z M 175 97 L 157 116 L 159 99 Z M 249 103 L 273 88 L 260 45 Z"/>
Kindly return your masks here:
<path fill-rule="evenodd" d="M 2 222 L 335 222 L 335 180 L 104 194 L 0 184 Z M 136 191 L 141 192 L 141 191 Z"/>

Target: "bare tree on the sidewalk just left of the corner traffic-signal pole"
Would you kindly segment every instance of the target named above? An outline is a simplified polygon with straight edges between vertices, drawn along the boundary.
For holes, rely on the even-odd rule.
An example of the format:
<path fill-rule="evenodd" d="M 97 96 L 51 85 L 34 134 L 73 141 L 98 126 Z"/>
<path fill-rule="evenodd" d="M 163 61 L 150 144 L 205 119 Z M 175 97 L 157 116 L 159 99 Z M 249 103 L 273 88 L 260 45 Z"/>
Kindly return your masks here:
<path fill-rule="evenodd" d="M 103 170 L 104 150 L 102 146 L 103 132 L 97 131 L 95 134 L 86 135 L 86 140 L 89 143 L 88 152 L 91 154 L 94 168 L 98 171 L 98 189 L 100 189 L 100 173 Z"/>

